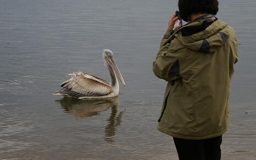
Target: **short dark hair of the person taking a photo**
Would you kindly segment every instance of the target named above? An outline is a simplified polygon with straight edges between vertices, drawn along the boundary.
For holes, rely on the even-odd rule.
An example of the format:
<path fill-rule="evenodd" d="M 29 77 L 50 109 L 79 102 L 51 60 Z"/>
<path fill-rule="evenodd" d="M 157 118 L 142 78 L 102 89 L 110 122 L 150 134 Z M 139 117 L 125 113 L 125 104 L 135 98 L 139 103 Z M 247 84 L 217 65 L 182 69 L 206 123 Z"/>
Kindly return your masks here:
<path fill-rule="evenodd" d="M 219 10 L 218 0 L 179 0 L 178 6 L 184 20 L 197 13 L 216 15 Z"/>

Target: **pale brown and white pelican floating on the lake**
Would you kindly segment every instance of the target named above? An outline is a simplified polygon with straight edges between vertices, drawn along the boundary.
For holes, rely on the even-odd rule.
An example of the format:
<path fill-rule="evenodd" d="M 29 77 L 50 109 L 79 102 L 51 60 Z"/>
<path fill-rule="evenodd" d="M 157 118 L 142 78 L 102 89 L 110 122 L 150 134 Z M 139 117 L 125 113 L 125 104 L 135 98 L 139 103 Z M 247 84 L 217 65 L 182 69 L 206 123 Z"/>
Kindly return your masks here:
<path fill-rule="evenodd" d="M 62 90 L 54 93 L 56 96 L 84 98 L 109 98 L 116 97 L 119 93 L 118 79 L 126 86 L 123 76 L 115 64 L 114 54 L 112 51 L 105 49 L 103 51 L 103 62 L 109 71 L 110 83 L 95 75 L 84 72 L 74 72 L 68 74 L 71 76 L 69 80 L 60 84 Z"/>

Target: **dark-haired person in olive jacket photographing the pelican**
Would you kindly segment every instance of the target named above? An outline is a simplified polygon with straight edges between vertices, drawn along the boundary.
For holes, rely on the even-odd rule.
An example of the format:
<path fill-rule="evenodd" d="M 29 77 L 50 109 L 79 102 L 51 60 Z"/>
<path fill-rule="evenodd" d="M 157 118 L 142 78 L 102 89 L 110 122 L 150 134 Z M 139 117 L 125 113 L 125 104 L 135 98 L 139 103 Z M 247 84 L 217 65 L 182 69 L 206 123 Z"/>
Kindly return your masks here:
<path fill-rule="evenodd" d="M 220 159 L 229 127 L 229 90 L 237 62 L 233 28 L 215 17 L 217 0 L 179 0 L 188 23 L 174 31 L 173 15 L 153 72 L 168 82 L 158 130 L 174 139 L 179 159 Z"/>

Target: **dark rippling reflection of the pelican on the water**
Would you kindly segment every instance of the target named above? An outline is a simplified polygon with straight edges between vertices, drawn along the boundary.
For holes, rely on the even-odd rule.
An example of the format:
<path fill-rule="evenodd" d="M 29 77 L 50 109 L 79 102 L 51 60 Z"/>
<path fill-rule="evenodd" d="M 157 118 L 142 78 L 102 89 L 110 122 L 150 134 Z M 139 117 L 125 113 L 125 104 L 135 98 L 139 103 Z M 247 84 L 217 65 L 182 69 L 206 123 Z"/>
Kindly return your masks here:
<path fill-rule="evenodd" d="M 105 141 L 113 143 L 116 127 L 118 127 L 122 120 L 124 111 L 119 112 L 119 98 L 104 98 L 104 99 L 77 99 L 64 97 L 56 100 L 62 105 L 66 113 L 79 117 L 92 117 L 99 115 L 100 112 L 111 108 L 111 114 L 107 119 L 108 125 L 105 127 Z"/>

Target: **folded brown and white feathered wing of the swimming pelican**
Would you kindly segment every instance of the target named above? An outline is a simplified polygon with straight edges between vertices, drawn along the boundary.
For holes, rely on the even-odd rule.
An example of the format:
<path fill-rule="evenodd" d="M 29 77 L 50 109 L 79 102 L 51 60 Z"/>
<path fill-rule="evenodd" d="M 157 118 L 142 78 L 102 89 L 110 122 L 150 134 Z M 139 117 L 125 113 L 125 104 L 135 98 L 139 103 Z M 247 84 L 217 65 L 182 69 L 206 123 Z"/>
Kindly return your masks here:
<path fill-rule="evenodd" d="M 62 90 L 55 94 L 71 97 L 99 97 L 110 94 L 113 90 L 109 82 L 84 72 L 74 72 L 69 80 L 60 84 Z"/>

